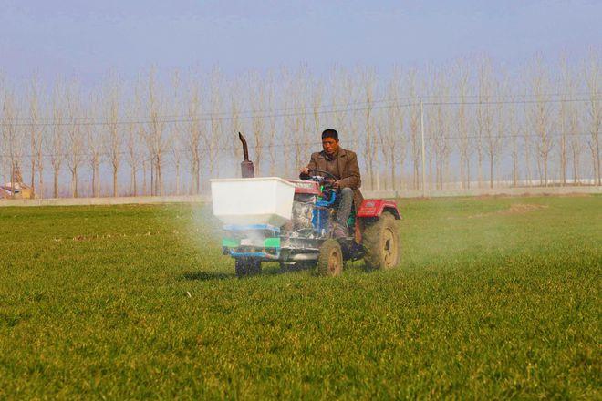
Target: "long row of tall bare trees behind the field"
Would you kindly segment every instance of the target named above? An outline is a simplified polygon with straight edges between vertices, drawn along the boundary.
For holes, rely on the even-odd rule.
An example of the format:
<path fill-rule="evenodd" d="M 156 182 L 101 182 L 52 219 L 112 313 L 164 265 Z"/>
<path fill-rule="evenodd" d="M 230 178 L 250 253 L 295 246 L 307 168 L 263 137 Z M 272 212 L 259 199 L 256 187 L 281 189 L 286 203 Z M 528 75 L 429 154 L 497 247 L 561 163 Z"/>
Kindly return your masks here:
<path fill-rule="evenodd" d="M 150 69 L 100 87 L 0 77 L 0 182 L 37 197 L 200 193 L 238 173 L 238 131 L 259 174 L 291 177 L 335 128 L 369 189 L 420 189 L 423 163 L 436 189 L 601 185 L 601 100 L 596 51 L 514 74 L 478 57 L 384 75 Z"/>

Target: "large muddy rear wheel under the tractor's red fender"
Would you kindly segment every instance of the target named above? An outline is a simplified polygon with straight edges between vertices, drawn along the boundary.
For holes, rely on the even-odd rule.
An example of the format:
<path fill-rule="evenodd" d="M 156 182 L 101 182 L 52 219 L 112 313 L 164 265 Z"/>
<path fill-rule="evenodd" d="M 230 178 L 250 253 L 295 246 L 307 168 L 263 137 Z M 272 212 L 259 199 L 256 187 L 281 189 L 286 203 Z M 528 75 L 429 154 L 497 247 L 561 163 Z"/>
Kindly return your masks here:
<path fill-rule="evenodd" d="M 400 232 L 391 213 L 385 211 L 377 221 L 369 223 L 362 239 L 368 268 L 389 270 L 399 264 Z"/>

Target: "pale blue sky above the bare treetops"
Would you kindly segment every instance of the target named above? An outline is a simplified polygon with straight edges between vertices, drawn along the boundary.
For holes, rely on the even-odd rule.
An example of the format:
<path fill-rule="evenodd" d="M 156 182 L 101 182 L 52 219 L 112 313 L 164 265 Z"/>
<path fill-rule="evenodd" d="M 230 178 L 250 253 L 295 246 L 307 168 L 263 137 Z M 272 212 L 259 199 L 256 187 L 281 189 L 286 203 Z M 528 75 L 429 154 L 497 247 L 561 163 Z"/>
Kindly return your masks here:
<path fill-rule="evenodd" d="M 480 52 L 512 67 L 601 45 L 600 1 L 0 0 L 0 69 L 15 78 L 95 82 L 150 65 L 386 71 Z"/>

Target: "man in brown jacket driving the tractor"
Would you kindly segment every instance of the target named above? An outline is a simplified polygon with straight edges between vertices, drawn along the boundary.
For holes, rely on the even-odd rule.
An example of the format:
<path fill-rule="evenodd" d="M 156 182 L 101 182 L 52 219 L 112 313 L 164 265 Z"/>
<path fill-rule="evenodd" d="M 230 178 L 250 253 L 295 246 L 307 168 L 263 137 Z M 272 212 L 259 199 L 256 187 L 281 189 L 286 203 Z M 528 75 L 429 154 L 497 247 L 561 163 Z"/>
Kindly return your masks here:
<path fill-rule="evenodd" d="M 355 205 L 356 211 L 363 200 L 359 186 L 358 156 L 355 152 L 343 149 L 338 145 L 338 132 L 335 129 L 326 129 L 322 132 L 322 151 L 312 153 L 307 167 L 301 169 L 301 176 L 309 174 L 311 170 L 324 170 L 337 178 L 334 187 L 340 189 L 337 221 L 334 227 L 335 237 L 347 237 L 347 220 L 351 206 Z"/>

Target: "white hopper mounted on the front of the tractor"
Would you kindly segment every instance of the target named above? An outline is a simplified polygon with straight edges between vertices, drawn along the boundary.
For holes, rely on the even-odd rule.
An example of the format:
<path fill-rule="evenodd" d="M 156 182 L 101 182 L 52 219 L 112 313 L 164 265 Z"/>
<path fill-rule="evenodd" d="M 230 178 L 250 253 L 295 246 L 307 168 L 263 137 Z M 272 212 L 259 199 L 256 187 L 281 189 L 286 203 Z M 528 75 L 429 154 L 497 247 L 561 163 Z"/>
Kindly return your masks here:
<path fill-rule="evenodd" d="M 211 196 L 224 224 L 280 227 L 291 219 L 295 186 L 278 177 L 211 180 Z"/>

